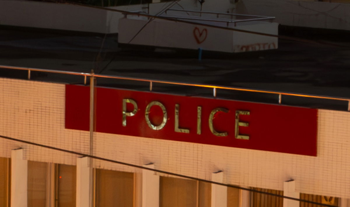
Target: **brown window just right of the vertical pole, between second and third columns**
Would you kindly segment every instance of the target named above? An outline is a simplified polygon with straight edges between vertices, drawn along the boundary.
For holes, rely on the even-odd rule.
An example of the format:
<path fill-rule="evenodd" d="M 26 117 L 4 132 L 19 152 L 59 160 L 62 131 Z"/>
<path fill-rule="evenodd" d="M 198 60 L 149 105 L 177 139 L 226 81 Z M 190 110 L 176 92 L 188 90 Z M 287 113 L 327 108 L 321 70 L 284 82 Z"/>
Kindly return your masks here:
<path fill-rule="evenodd" d="M 133 207 L 134 174 L 96 169 L 96 207 Z"/>

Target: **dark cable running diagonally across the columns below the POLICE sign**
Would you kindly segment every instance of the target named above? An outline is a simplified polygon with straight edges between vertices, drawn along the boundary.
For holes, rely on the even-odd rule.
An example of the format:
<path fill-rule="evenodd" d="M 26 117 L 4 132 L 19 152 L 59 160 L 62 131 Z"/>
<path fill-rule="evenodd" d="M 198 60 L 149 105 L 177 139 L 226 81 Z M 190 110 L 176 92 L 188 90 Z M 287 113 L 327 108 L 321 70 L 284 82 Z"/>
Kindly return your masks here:
<path fill-rule="evenodd" d="M 90 158 L 93 158 L 93 159 L 103 160 L 103 161 L 107 161 L 107 162 L 111 162 L 111 163 L 116 163 L 116 164 L 126 165 L 126 166 L 130 166 L 130 167 L 140 168 L 140 169 L 144 169 L 144 170 L 150 170 L 150 171 L 154 171 L 154 172 L 158 172 L 158 173 L 173 175 L 173 176 L 176 176 L 176 177 L 181 177 L 181 178 L 186 178 L 186 179 L 191 179 L 191 180 L 197 180 L 197 181 L 202 181 L 202 182 L 208 182 L 208 183 L 216 184 L 216 185 L 220 185 L 220 186 L 237 188 L 237 189 L 242 189 L 242 190 L 245 190 L 245 191 L 261 193 L 261 194 L 266 194 L 266 195 L 272 195 L 272 196 L 276 196 L 276 197 L 280 197 L 280 198 L 285 198 L 285 199 L 290 199 L 290 200 L 295 200 L 295 201 L 300 201 L 300 202 L 307 202 L 307 203 L 312 203 L 312 204 L 320 205 L 320 206 L 335 207 L 333 205 L 328 205 L 328 204 L 324 204 L 324 203 L 318 203 L 318 202 L 315 202 L 315 201 L 303 200 L 303 199 L 293 198 L 293 197 L 289 197 L 289 196 L 278 195 L 278 194 L 274 194 L 274 193 L 268 193 L 268 192 L 264 192 L 264 191 L 251 189 L 251 188 L 244 188 L 244 187 L 224 184 L 224 183 L 221 183 L 221 182 L 215 182 L 215 181 L 211 181 L 211 180 L 195 178 L 195 177 L 191 177 L 191 176 L 188 176 L 188 175 L 172 173 L 172 172 L 163 171 L 163 170 L 156 170 L 156 169 L 153 169 L 153 168 L 148 168 L 148 167 L 144 167 L 144 166 L 140 166 L 140 165 L 134 165 L 134 164 L 131 164 L 131 163 L 124 163 L 124 162 L 117 161 L 117 160 L 111 160 L 111 159 L 107 159 L 107 158 L 92 156 L 90 154 L 75 152 L 75 151 L 71 151 L 71 150 L 65 150 L 65 149 L 61 149 L 61 148 L 58 148 L 58 147 L 38 144 L 38 143 L 29 142 L 29 141 L 16 139 L 16 138 L 12 138 L 12 137 L 7 137 L 7 136 L 0 135 L 0 138 L 7 139 L 7 140 L 12 140 L 12 141 L 16 141 L 16 142 L 21 142 L 21 143 L 26 143 L 26 144 L 30 144 L 30 145 L 40 146 L 40 147 L 44 147 L 44 148 L 51 149 L 51 150 L 57 150 L 57 151 L 61 151 L 61 152 L 67 152 L 67 153 L 71 153 L 71 154 L 76 154 L 76 155 L 79 155 L 79 156 L 82 156 L 82 157 L 90 157 Z"/>

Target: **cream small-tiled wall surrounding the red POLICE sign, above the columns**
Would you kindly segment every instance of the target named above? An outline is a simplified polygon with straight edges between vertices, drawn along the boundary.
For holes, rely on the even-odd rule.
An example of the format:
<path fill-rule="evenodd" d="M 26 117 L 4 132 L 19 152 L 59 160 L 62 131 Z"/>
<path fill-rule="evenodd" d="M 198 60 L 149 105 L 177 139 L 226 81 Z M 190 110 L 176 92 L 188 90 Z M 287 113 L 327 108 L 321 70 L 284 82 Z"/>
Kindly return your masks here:
<path fill-rule="evenodd" d="M 89 132 L 64 129 L 65 85 L 0 78 L 0 135 L 89 153 Z M 318 110 L 317 157 L 95 133 L 94 155 L 202 179 L 224 171 L 233 185 L 350 198 L 350 113 Z M 283 139 L 283 137 L 281 137 Z M 293 140 L 290 140 L 293 142 Z M 25 159 L 75 165 L 76 155 L 0 138 L 0 157 L 23 147 Z M 138 172 L 95 160 L 99 168 Z"/>

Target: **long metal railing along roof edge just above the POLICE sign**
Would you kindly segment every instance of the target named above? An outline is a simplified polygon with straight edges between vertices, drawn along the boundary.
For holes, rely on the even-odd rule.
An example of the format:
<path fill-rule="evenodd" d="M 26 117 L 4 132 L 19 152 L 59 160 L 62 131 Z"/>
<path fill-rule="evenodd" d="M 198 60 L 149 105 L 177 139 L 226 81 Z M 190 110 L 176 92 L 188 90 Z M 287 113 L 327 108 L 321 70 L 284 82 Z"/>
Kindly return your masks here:
<path fill-rule="evenodd" d="M 281 104 L 281 102 L 282 102 L 282 95 L 283 96 L 296 96 L 296 97 L 307 97 L 307 98 L 347 101 L 348 102 L 348 111 L 350 111 L 350 98 L 338 98 L 338 97 L 330 97 L 330 96 L 315 96 L 315 95 L 295 94 L 295 93 L 287 93 L 287 92 L 280 92 L 280 91 L 266 91 L 266 90 L 257 90 L 257 89 L 247 89 L 247 88 L 224 87 L 224 86 L 219 86 L 219 85 L 205 85 L 205 84 L 182 83 L 182 82 L 173 82 L 173 81 L 160 81 L 160 80 L 152 80 L 152 79 L 145 79 L 145 78 L 131 78 L 131 77 L 102 75 L 102 74 L 94 74 L 94 73 L 79 73 L 79 72 L 64 71 L 64 70 L 24 68 L 24 67 L 16 67 L 16 66 L 8 66 L 8 65 L 0 65 L 0 68 L 14 69 L 14 70 L 27 70 L 28 71 L 28 80 L 30 80 L 31 71 L 38 71 L 38 72 L 44 72 L 44 73 L 57 73 L 57 74 L 83 76 L 84 77 L 84 84 L 86 84 L 86 77 L 88 77 L 88 76 L 89 77 L 100 77 L 100 78 L 112 78 L 112 79 L 119 79 L 119 80 L 149 82 L 149 91 L 152 91 L 153 83 L 163 83 L 163 84 L 170 84 L 170 85 L 194 86 L 194 87 L 199 87 L 199 88 L 212 88 L 214 97 L 216 97 L 217 89 L 258 92 L 258 93 L 262 93 L 262 94 L 276 94 L 276 95 L 278 95 L 278 103 L 279 104 Z"/>

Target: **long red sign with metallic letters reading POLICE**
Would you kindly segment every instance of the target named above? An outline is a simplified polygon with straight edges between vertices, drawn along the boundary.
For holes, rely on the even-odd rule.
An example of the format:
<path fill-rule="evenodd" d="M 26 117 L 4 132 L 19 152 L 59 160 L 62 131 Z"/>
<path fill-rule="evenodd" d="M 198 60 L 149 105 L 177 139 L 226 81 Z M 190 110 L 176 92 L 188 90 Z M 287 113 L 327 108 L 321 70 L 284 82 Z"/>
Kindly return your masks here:
<path fill-rule="evenodd" d="M 89 130 L 90 88 L 66 85 L 65 127 Z M 96 89 L 96 131 L 317 155 L 317 110 Z"/>

